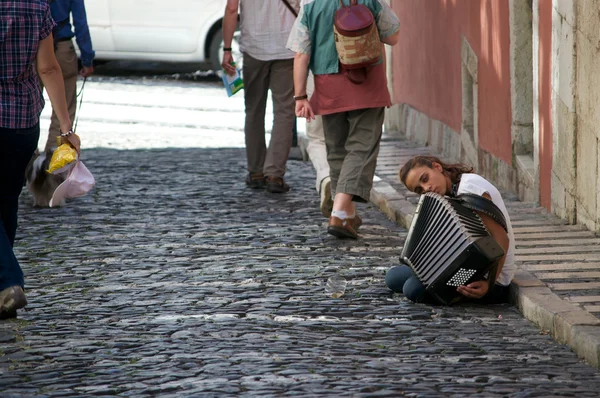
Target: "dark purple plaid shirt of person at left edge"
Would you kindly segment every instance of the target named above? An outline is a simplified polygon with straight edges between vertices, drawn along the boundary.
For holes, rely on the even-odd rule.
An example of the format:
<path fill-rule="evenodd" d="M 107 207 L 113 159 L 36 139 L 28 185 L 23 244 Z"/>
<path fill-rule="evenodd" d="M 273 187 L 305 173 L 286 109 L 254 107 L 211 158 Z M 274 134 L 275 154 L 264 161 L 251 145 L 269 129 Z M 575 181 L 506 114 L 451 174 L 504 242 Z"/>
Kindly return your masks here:
<path fill-rule="evenodd" d="M 54 25 L 46 0 L 0 1 L 0 127 L 39 122 L 44 99 L 34 62 Z"/>

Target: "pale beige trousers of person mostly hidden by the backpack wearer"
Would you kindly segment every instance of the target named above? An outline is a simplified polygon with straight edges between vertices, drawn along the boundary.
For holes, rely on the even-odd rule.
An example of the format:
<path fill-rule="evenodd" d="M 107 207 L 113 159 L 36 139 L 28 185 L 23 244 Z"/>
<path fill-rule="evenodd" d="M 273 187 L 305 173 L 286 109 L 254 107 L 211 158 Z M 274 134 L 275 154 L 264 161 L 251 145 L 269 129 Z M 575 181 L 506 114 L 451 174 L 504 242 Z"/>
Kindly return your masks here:
<path fill-rule="evenodd" d="M 306 94 L 309 98 L 314 91 L 315 78 L 311 72 L 308 74 L 306 82 Z M 327 163 L 327 148 L 325 146 L 325 134 L 323 133 L 323 119 L 321 116 L 315 115 L 315 120 L 306 123 L 306 135 L 308 136 L 306 151 L 317 173 L 315 181 L 317 192 L 321 193 L 321 181 L 329 176 L 329 163 Z"/>

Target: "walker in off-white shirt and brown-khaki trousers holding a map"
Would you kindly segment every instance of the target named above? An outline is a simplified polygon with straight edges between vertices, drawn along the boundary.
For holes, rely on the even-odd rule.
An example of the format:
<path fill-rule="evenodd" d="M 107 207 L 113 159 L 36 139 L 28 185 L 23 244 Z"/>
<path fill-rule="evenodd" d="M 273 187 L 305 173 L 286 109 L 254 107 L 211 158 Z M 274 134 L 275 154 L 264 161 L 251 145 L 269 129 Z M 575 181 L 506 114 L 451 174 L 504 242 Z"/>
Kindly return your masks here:
<path fill-rule="evenodd" d="M 298 9 L 298 0 L 287 0 Z M 243 81 L 246 120 L 244 134 L 248 175 L 253 189 L 283 193 L 292 146 L 294 116 L 293 57 L 285 44 L 295 16 L 283 0 L 227 0 L 223 17 L 223 62 L 225 73 L 233 75 L 231 41 L 240 17 L 240 49 L 244 54 Z M 267 94 L 273 97 L 273 129 L 269 146 L 265 142 Z"/>

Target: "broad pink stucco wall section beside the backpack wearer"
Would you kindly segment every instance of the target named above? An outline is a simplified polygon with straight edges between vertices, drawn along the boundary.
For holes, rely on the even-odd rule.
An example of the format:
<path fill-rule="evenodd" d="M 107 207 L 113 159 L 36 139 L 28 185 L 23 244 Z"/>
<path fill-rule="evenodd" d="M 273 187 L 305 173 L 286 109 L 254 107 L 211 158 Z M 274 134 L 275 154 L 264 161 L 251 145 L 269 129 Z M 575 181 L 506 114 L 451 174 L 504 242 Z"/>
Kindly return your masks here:
<path fill-rule="evenodd" d="M 508 1 L 391 0 L 401 23 L 392 50 L 394 103 L 461 131 L 461 38 L 477 54 L 479 146 L 512 163 Z"/>

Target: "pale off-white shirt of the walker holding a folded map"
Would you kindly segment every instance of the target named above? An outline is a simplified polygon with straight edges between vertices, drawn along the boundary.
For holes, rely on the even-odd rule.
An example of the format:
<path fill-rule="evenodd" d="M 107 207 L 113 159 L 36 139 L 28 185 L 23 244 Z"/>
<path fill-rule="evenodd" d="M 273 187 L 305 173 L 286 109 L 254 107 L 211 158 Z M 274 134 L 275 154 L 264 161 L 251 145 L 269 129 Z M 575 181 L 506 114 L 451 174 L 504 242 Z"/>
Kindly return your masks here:
<path fill-rule="evenodd" d="M 288 2 L 300 9 L 300 0 Z M 282 0 L 240 0 L 240 50 L 260 61 L 294 58 L 286 44 L 295 20 Z"/>

